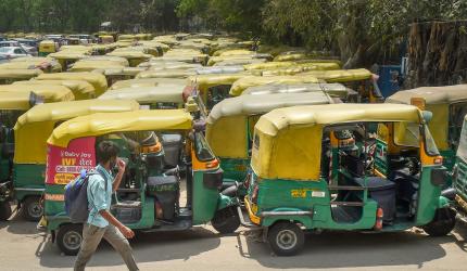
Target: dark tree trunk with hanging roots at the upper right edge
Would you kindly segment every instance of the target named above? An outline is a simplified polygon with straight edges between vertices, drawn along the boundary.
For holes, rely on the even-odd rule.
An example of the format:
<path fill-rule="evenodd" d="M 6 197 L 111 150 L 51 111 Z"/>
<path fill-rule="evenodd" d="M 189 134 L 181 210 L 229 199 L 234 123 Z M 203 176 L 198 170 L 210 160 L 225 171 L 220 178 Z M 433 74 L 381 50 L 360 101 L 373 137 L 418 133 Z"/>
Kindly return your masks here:
<path fill-rule="evenodd" d="M 411 25 L 406 88 L 466 81 L 467 21 Z"/>

